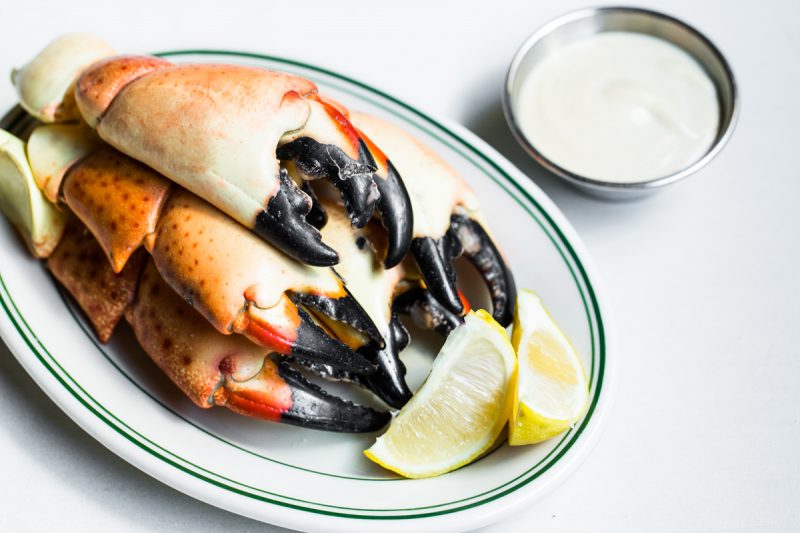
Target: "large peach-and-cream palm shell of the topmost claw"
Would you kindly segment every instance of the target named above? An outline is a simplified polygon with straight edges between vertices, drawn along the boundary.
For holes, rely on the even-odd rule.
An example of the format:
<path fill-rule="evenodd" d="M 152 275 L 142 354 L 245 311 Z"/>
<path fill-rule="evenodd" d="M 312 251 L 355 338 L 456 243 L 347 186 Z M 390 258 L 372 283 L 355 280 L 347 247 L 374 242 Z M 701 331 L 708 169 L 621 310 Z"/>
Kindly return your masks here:
<path fill-rule="evenodd" d="M 280 186 L 275 147 L 306 123 L 301 95 L 315 90 L 308 80 L 263 69 L 172 66 L 125 86 L 97 131 L 252 228 Z"/>

